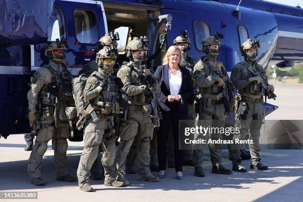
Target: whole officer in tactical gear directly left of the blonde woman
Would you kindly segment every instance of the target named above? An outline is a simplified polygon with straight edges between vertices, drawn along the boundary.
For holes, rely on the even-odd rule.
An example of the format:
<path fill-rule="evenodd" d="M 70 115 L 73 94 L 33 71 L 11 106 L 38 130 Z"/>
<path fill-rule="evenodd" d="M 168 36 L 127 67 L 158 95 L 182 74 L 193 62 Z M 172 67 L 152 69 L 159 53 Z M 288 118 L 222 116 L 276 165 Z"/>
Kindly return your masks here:
<path fill-rule="evenodd" d="M 152 74 L 145 75 L 142 61 L 147 59 L 147 39 L 134 37 L 126 47 L 129 63 L 121 66 L 117 76 L 121 78 L 124 92 L 128 95 L 131 102 L 127 118 L 120 126 L 120 145 L 118 147 L 116 162 L 119 172 L 119 179 L 128 184 L 125 178 L 125 162 L 127 154 L 134 142 L 136 135 L 139 138 L 136 145 L 136 160 L 138 166 L 139 180 L 156 182 L 159 180 L 150 171 L 150 142 L 153 133 L 152 119 L 150 112 L 144 109 L 151 99 L 151 91 L 147 85 L 143 85 L 143 80 L 155 83 Z M 139 130 L 139 131 L 138 131 Z"/>

